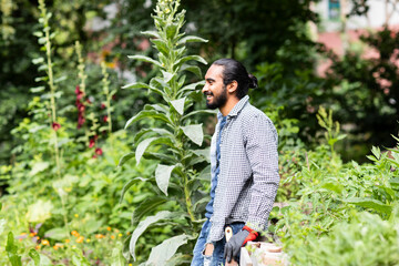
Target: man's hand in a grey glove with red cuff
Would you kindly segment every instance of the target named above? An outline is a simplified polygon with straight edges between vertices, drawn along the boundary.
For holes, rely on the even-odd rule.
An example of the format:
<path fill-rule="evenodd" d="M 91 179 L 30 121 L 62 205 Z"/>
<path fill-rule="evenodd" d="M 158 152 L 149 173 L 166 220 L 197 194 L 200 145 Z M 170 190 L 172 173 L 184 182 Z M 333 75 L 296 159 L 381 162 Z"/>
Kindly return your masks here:
<path fill-rule="evenodd" d="M 244 226 L 243 231 L 233 235 L 225 245 L 224 258 L 227 263 L 231 263 L 232 259 L 238 256 L 242 246 L 244 246 L 248 241 L 255 241 L 257 236 L 258 233 L 250 229 L 248 226 Z"/>

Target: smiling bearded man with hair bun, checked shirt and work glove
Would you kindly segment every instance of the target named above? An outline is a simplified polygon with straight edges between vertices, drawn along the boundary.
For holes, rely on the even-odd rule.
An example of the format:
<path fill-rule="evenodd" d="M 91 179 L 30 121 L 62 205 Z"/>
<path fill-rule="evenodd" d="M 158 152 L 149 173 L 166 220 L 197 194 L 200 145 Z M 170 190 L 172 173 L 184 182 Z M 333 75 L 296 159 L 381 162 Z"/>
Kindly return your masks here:
<path fill-rule="evenodd" d="M 205 81 L 206 105 L 219 112 L 211 144 L 207 221 L 192 266 L 233 265 L 241 247 L 266 229 L 279 183 L 277 132 L 265 113 L 248 102 L 248 89 L 257 88 L 257 79 L 242 63 L 217 60 Z M 234 234 L 227 244 L 226 226 Z"/>

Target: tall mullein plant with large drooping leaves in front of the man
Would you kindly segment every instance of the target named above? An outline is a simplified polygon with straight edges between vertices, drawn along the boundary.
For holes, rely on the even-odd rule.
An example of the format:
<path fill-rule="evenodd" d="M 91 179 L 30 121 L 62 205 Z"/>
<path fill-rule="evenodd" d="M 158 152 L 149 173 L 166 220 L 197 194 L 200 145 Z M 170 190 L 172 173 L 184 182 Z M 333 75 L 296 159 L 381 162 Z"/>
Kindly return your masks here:
<path fill-rule="evenodd" d="M 205 203 L 204 195 L 198 192 L 202 185 L 198 175 L 207 165 L 204 162 L 208 162 L 208 150 L 201 149 L 204 140 L 203 126 L 195 122 L 193 115 L 213 111 L 192 111 L 195 99 L 201 99 L 201 90 L 196 89 L 204 85 L 204 81 L 186 84 L 186 73 L 190 71 L 202 79 L 201 70 L 195 62 L 206 64 L 206 61 L 200 55 L 186 55 L 185 44 L 206 40 L 181 33 L 185 10 L 177 12 L 178 7 L 180 0 L 158 1 L 153 16 L 156 31 L 142 32 L 151 38 L 153 47 L 158 51 L 157 59 L 144 55 L 129 57 L 152 63 L 160 70 L 158 76 L 153 78 L 149 84 L 135 82 L 123 86 L 147 89 L 149 93 L 158 94 L 162 99 L 157 103 L 146 104 L 126 122 L 125 127 L 129 127 L 140 120 L 152 119 L 156 121 L 156 126 L 135 133 L 135 151 L 124 155 L 120 161 L 120 165 L 131 157 L 135 157 L 136 164 L 140 164 L 143 157 L 157 162 L 154 177 L 145 180 L 153 184 L 157 195 L 141 203 L 134 212 L 133 224 L 145 213 L 160 209 L 166 202 L 175 202 L 174 208 L 178 208 L 177 212 L 156 212 L 155 215 L 141 219 L 131 236 L 130 254 L 135 259 L 136 241 L 150 226 L 161 221 L 177 225 L 174 226 L 174 232 L 183 234 L 176 233 L 176 236 L 152 248 L 147 264 L 154 265 L 165 265 L 171 259 L 177 265 L 184 259 L 190 259 L 188 255 L 175 253 L 180 246 L 196 237 L 200 226 L 198 213 L 203 211 L 201 207 L 204 207 Z M 143 182 L 143 178 L 136 177 L 126 183 L 122 197 L 135 182 Z"/>

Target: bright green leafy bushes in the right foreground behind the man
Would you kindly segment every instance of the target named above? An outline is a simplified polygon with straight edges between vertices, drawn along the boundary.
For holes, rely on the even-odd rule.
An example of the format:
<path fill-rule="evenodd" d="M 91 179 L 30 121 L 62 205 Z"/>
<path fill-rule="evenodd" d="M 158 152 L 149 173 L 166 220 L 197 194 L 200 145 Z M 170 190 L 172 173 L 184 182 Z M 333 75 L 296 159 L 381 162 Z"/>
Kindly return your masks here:
<path fill-rule="evenodd" d="M 319 120 L 328 139 L 330 133 L 339 135 L 331 130 L 331 114 L 320 111 Z M 359 165 L 342 164 L 331 154 L 334 150 L 321 145 L 297 155 L 294 175 L 282 181 L 283 186 L 290 183 L 295 197 L 273 209 L 270 217 L 278 222 L 270 229 L 295 265 L 397 264 L 397 256 L 387 250 L 398 245 L 398 170 L 392 168 L 398 157 L 374 147 L 372 164 Z"/>

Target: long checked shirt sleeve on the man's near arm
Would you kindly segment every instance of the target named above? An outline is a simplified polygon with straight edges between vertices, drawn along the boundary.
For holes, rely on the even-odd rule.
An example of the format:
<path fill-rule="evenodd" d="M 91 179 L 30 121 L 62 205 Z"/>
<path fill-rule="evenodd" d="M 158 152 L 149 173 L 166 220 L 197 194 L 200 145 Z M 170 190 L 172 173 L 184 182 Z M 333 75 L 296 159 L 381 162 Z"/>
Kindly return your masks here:
<path fill-rule="evenodd" d="M 265 115 L 255 115 L 249 120 L 245 135 L 245 149 L 253 171 L 246 225 L 262 232 L 267 227 L 279 183 L 278 136 L 272 121 Z"/>

